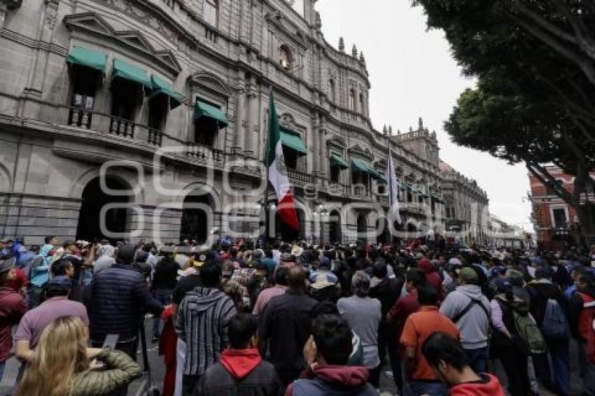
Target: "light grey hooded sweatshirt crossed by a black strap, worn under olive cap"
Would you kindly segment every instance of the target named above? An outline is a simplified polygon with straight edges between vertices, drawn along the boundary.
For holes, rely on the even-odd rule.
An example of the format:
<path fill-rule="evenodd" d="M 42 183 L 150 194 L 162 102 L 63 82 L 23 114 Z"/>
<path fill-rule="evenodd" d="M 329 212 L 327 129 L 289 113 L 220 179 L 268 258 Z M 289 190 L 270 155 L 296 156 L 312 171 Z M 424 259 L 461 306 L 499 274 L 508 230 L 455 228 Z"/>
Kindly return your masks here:
<path fill-rule="evenodd" d="M 479 286 L 458 286 L 454 292 L 451 292 L 444 299 L 440 306 L 440 313 L 454 321 L 472 300 L 475 300 L 477 304 L 473 304 L 467 313 L 454 324 L 461 332 L 461 345 L 463 348 L 485 348 L 488 346 L 491 306 L 489 300 L 482 295 L 482 289 Z M 484 309 L 478 304 L 482 304 Z"/>

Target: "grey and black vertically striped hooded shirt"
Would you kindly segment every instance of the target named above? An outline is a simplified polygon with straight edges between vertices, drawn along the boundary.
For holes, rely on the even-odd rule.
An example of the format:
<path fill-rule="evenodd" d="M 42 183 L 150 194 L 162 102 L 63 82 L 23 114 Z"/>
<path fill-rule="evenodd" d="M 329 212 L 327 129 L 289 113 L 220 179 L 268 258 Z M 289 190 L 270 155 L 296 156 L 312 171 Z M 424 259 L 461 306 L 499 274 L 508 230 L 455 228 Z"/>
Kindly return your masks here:
<path fill-rule="evenodd" d="M 184 374 L 200 376 L 219 361 L 236 313 L 232 299 L 219 289 L 199 286 L 186 294 L 176 318 L 176 333 L 186 342 Z"/>

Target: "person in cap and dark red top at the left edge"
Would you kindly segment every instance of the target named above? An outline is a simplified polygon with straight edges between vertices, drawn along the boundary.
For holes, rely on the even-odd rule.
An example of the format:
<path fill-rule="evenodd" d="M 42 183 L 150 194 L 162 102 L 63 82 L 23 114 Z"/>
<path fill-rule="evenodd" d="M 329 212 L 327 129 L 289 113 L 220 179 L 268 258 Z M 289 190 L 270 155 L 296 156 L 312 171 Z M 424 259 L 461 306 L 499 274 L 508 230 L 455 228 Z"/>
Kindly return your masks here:
<path fill-rule="evenodd" d="M 16 278 L 15 261 L 14 258 L 0 260 L 0 381 L 13 344 L 13 326 L 18 325 L 27 311 L 22 295 L 7 287 Z"/>

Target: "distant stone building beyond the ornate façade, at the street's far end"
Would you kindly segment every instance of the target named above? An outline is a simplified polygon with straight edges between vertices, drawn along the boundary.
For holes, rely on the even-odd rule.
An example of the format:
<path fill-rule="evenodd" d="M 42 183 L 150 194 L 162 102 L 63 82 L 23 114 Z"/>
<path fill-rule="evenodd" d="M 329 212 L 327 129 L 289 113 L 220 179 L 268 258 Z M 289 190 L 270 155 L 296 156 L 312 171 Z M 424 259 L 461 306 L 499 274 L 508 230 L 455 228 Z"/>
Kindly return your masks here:
<path fill-rule="evenodd" d="M 440 162 L 442 192 L 446 205 L 447 232 L 458 233 L 466 243 L 488 243 L 489 199 L 477 181 L 463 176 L 446 162 Z"/>

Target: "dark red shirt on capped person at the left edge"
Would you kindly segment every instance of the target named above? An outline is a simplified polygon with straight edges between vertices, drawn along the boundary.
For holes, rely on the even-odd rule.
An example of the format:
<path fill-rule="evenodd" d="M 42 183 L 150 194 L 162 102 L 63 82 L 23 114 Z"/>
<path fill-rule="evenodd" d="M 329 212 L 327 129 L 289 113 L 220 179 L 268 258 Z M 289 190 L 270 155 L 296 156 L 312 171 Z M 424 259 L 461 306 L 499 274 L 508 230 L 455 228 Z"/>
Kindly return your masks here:
<path fill-rule="evenodd" d="M 13 345 L 12 330 L 27 311 L 22 295 L 10 288 L 0 288 L 0 363 L 6 362 Z"/>

